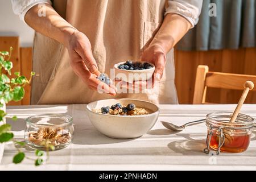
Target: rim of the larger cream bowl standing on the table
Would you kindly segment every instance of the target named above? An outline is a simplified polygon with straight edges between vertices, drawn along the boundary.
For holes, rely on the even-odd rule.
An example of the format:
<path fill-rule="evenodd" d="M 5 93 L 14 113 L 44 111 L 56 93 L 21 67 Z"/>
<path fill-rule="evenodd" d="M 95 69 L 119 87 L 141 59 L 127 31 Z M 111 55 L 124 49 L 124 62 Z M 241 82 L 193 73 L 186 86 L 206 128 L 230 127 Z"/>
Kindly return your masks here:
<path fill-rule="evenodd" d="M 143 114 L 143 115 L 112 115 L 112 114 L 96 113 L 96 112 L 94 112 L 94 111 L 92 111 L 92 110 L 90 110 L 90 109 L 88 108 L 88 105 L 89 105 L 89 104 L 92 104 L 93 102 L 105 101 L 105 100 L 135 100 L 135 101 L 142 101 L 142 102 L 147 102 L 148 104 L 152 104 L 152 105 L 156 106 L 156 108 L 157 108 L 158 110 L 156 110 L 156 111 L 153 112 L 153 113 L 150 113 L 150 114 Z M 137 117 L 143 118 L 143 117 L 150 117 L 151 115 L 155 115 L 155 113 L 160 113 L 160 108 L 159 108 L 156 104 L 154 104 L 154 103 L 152 103 L 152 102 L 149 102 L 149 101 L 144 101 L 144 100 L 139 100 L 139 99 L 134 99 L 134 98 L 116 98 L 116 99 L 115 99 L 115 98 L 109 98 L 109 99 L 98 100 L 98 101 L 93 101 L 93 102 L 88 103 L 88 104 L 86 105 L 86 110 L 90 111 L 91 113 L 98 114 L 98 115 L 104 115 L 104 116 L 107 116 L 107 117 L 119 117 L 119 118 L 126 118 L 126 117 L 127 117 L 127 118 L 137 118 Z"/>

